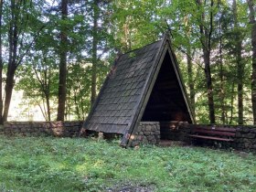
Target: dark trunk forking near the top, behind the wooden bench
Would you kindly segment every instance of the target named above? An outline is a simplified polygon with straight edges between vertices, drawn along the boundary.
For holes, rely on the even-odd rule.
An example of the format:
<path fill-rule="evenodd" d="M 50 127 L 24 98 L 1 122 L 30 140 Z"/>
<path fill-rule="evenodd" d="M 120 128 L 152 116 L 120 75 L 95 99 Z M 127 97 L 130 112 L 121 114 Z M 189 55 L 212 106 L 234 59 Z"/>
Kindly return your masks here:
<path fill-rule="evenodd" d="M 201 0 L 197 0 L 197 5 L 201 9 L 202 2 Z M 211 0 L 211 8 L 213 7 L 213 0 Z M 208 114 L 210 123 L 215 123 L 215 109 L 214 109 L 214 100 L 213 100 L 213 88 L 212 88 L 212 80 L 211 80 L 211 71 L 210 71 L 210 51 L 211 51 L 211 35 L 213 31 L 213 13 L 210 10 L 209 17 L 209 27 L 206 28 L 206 19 L 205 12 L 201 14 L 200 17 L 200 40 L 203 48 L 203 58 L 205 63 L 205 76 L 207 80 L 207 89 L 208 89 Z"/>

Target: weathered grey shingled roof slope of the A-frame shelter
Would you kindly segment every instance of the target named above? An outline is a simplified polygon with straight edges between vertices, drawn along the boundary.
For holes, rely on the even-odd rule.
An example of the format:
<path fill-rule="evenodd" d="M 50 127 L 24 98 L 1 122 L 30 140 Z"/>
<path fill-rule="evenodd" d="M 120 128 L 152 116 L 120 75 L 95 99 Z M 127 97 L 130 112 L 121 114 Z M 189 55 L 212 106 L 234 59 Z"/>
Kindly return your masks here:
<path fill-rule="evenodd" d="M 157 76 L 155 71 L 158 63 L 169 47 L 169 40 L 165 37 L 120 56 L 103 83 L 83 128 L 103 133 L 122 133 L 125 145 L 142 117 L 140 112 L 144 112 L 148 91 Z"/>

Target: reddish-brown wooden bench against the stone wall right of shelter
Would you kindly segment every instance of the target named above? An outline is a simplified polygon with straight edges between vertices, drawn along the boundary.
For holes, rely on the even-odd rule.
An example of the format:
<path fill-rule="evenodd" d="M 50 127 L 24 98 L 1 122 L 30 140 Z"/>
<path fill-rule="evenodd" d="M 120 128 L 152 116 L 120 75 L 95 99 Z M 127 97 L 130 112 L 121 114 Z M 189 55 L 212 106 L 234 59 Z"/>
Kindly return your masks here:
<path fill-rule="evenodd" d="M 234 141 L 236 135 L 236 129 L 226 127 L 196 127 L 191 129 L 190 137 L 198 139 L 208 139 L 223 142 Z"/>

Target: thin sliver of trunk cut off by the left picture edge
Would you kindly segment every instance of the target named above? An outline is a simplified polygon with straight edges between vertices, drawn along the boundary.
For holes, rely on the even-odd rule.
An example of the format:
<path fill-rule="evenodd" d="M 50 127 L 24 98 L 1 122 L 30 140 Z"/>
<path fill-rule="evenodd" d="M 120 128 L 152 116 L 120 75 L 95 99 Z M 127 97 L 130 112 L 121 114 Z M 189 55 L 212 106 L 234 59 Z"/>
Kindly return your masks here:
<path fill-rule="evenodd" d="M 4 124 L 3 121 L 3 53 L 2 53 L 2 16 L 3 16 L 3 4 L 4 0 L 0 0 L 0 124 Z"/>

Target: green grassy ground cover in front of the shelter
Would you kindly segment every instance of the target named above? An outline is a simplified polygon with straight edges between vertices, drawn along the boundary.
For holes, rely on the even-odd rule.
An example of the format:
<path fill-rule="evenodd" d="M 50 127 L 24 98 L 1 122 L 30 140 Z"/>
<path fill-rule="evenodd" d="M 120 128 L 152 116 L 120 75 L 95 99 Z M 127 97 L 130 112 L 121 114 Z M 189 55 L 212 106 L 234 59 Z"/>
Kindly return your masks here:
<path fill-rule="evenodd" d="M 0 136 L 0 191 L 107 191 L 127 185 L 161 192 L 256 191 L 256 155 Z"/>

